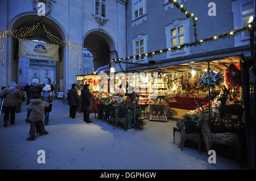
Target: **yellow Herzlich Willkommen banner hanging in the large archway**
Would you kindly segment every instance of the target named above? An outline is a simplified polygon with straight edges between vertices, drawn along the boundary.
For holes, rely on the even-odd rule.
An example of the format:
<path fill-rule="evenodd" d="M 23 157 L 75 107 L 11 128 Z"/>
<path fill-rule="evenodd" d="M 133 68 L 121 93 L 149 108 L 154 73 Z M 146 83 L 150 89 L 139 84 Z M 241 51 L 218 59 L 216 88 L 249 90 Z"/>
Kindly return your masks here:
<path fill-rule="evenodd" d="M 59 45 L 19 39 L 19 57 L 59 61 Z"/>

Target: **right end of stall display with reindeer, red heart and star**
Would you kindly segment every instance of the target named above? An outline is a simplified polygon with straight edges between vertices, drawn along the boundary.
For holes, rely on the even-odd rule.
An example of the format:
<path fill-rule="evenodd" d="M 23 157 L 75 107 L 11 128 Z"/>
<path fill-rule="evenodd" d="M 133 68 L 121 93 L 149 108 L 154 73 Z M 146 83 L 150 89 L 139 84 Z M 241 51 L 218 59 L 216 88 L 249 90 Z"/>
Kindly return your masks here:
<path fill-rule="evenodd" d="M 201 87 L 210 87 L 210 103 L 187 112 L 183 119 L 197 121 L 202 109 L 209 117 L 209 124 L 231 130 L 244 130 L 243 96 L 240 65 L 230 64 L 222 73 L 204 73 L 199 78 Z M 197 103 L 200 103 L 197 100 Z M 209 110 L 210 109 L 210 110 Z M 180 123 L 178 121 L 177 125 Z"/>

